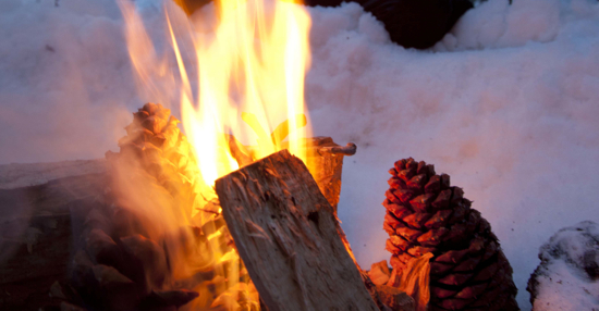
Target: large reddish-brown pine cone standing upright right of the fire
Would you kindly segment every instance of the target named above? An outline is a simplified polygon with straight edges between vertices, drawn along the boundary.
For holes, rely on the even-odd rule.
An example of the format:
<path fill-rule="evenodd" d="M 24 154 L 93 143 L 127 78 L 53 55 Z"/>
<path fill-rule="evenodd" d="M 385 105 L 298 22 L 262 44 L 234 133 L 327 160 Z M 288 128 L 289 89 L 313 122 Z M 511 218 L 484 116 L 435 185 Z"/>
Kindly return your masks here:
<path fill-rule="evenodd" d="M 391 265 L 401 273 L 411 259 L 433 254 L 429 310 L 519 310 L 512 268 L 462 188 L 412 158 L 389 173 L 383 227 Z"/>

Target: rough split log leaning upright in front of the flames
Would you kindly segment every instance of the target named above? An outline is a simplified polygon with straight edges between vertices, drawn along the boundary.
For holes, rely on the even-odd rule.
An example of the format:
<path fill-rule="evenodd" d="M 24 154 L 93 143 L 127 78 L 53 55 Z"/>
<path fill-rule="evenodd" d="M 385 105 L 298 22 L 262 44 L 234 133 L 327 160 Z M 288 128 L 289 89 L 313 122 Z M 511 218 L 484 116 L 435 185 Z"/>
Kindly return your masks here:
<path fill-rule="evenodd" d="M 236 248 L 269 310 L 378 310 L 334 211 L 283 150 L 216 183 Z"/>

